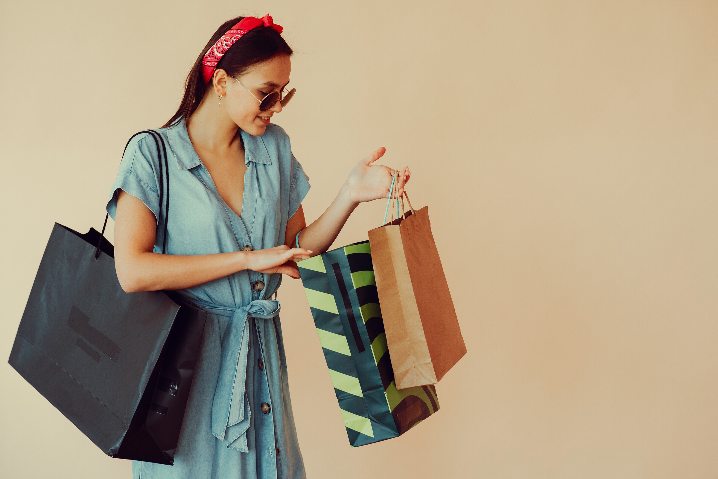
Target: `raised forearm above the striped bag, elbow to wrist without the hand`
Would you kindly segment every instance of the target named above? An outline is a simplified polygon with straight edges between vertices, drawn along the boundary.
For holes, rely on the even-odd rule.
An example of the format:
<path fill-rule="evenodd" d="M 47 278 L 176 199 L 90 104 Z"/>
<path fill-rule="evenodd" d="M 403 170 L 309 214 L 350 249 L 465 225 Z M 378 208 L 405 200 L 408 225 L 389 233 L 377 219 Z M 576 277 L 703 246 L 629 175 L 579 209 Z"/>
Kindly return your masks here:
<path fill-rule="evenodd" d="M 350 200 L 348 185 L 343 185 L 329 208 L 299 233 L 299 245 L 313 251 L 313 255 L 327 251 L 357 206 Z"/>

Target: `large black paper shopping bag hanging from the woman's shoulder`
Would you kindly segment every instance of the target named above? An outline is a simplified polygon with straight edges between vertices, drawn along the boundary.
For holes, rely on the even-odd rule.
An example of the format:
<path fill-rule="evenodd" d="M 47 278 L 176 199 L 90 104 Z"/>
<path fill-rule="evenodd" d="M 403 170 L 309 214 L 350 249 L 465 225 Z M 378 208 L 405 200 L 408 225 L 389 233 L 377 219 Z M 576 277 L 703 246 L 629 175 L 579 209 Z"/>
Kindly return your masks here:
<path fill-rule="evenodd" d="M 124 292 L 101 233 L 55 223 L 9 363 L 107 455 L 172 465 L 206 318 Z"/>

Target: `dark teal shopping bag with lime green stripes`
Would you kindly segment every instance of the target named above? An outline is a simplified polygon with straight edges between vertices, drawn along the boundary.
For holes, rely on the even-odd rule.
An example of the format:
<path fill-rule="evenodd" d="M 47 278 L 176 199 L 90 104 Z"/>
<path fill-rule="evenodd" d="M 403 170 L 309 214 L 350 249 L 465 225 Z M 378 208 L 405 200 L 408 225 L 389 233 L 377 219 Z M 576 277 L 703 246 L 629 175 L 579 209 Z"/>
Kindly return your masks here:
<path fill-rule="evenodd" d="M 434 386 L 396 389 L 368 241 L 297 263 L 352 447 L 400 436 L 439 409 Z"/>

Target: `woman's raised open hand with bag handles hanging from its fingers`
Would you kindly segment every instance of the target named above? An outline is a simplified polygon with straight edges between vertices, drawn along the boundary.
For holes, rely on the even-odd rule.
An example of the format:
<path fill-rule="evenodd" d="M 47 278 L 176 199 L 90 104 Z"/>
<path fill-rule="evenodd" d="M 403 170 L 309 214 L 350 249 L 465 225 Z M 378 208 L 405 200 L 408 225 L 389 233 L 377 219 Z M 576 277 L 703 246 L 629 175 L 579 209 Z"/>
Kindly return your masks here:
<path fill-rule="evenodd" d="M 389 197 L 391 179 L 396 170 L 382 164 L 372 164 L 381 158 L 384 152 L 386 152 L 386 148 L 381 147 L 361 160 L 350 172 L 344 187 L 347 189 L 349 200 L 352 203 L 365 203 Z M 410 177 L 409 167 L 404 167 L 398 172 L 399 196 L 404 194 L 404 185 Z"/>

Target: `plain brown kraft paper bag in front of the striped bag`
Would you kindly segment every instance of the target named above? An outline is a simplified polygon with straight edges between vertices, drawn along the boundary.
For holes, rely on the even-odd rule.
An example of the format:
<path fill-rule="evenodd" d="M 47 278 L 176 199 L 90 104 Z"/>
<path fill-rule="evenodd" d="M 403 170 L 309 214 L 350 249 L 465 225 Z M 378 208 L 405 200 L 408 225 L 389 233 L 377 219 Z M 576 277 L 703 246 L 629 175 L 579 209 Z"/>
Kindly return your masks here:
<path fill-rule="evenodd" d="M 403 219 L 368 234 L 396 388 L 437 383 L 466 354 L 466 346 L 429 207 L 411 208 Z"/>

